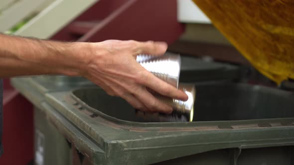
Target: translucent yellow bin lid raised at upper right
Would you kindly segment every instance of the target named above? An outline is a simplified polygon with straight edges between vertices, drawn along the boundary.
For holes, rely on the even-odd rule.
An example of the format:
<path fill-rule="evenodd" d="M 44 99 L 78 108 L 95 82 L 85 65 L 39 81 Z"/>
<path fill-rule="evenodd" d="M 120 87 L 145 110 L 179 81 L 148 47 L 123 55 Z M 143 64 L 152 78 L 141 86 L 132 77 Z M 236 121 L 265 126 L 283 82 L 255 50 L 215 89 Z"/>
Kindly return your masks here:
<path fill-rule="evenodd" d="M 294 0 L 193 0 L 268 78 L 294 79 Z"/>

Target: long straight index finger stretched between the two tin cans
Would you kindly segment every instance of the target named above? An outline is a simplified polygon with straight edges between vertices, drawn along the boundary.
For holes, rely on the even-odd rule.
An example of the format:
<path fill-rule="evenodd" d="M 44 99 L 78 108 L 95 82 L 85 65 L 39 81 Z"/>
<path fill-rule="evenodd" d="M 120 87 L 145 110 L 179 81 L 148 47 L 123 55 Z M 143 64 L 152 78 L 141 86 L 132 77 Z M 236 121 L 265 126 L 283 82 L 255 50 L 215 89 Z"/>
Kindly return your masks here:
<path fill-rule="evenodd" d="M 143 78 L 140 83 L 158 92 L 159 94 L 183 101 L 186 101 L 188 99 L 188 95 L 186 93 L 160 80 L 151 73 L 146 72 L 144 77 L 145 78 Z"/>

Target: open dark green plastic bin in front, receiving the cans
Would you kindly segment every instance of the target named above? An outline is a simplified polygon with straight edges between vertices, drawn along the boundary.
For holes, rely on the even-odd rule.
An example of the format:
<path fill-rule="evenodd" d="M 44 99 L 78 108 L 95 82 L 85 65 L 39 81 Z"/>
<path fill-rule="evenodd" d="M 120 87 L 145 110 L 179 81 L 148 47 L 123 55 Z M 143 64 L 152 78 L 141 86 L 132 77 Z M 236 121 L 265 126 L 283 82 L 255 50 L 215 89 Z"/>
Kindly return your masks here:
<path fill-rule="evenodd" d="M 91 165 L 293 161 L 294 93 L 234 83 L 196 84 L 196 88 L 195 121 L 190 123 L 142 123 L 127 102 L 100 88 L 50 93 L 46 98 L 51 106 L 43 106 L 51 111 L 50 121 L 60 132 L 78 150 L 83 148 L 82 160 Z M 67 131 L 75 131 L 65 131 L 66 124 L 53 121 L 58 115 L 93 144 L 72 140 L 77 137 Z"/>

